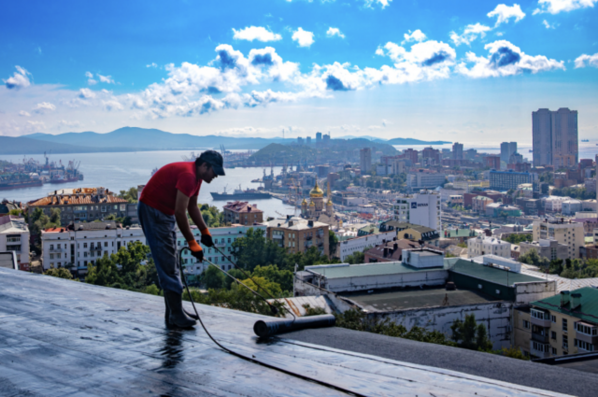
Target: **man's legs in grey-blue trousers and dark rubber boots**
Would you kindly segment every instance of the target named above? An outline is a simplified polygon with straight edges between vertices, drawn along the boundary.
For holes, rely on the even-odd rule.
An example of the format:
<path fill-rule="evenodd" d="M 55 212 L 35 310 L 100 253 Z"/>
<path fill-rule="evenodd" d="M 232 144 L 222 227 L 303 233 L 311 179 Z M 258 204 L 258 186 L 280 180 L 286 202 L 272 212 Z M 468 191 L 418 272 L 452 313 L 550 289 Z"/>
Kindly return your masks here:
<path fill-rule="evenodd" d="M 168 322 L 182 328 L 193 326 L 196 321 L 187 317 L 182 309 L 183 286 L 177 266 L 175 217 L 141 202 L 138 208 L 139 222 L 154 258 L 160 286 L 164 291 L 167 315 L 170 312 Z"/>

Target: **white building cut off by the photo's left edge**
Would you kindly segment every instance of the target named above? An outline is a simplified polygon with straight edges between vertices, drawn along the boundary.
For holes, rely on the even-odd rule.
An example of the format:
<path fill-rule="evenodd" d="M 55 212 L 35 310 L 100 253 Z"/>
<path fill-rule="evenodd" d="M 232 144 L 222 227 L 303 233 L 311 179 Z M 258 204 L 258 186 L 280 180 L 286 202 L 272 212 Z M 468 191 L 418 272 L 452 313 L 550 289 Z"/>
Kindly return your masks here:
<path fill-rule="evenodd" d="M 15 215 L 0 217 L 0 252 L 14 251 L 19 270 L 29 271 L 29 227 Z"/>

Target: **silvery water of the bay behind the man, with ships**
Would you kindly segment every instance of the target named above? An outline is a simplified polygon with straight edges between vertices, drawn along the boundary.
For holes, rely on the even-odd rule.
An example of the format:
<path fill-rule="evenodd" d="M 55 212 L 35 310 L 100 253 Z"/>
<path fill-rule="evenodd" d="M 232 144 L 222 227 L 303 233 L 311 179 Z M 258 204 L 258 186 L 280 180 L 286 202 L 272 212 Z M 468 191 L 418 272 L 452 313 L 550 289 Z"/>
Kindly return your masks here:
<path fill-rule="evenodd" d="M 185 151 L 155 151 L 155 152 L 126 152 L 126 153 L 85 153 L 85 154 L 60 154 L 51 155 L 50 161 L 62 159 L 63 164 L 68 164 L 68 160 L 81 161 L 79 170 L 85 176 L 84 181 L 69 182 L 65 184 L 44 184 L 41 187 L 20 188 L 14 190 L 4 190 L 0 192 L 1 198 L 8 200 L 30 201 L 36 198 L 44 197 L 48 192 L 56 189 L 67 189 L 77 187 L 105 187 L 111 191 L 128 190 L 130 187 L 147 184 L 151 172 L 154 168 L 164 166 L 175 161 L 182 161 L 184 155 L 189 155 Z M 29 155 L 41 163 L 44 163 L 43 155 Z M 22 163 L 22 155 L 3 155 L 0 160 L 12 161 L 13 163 Z M 274 175 L 280 173 L 281 167 L 274 167 Z M 232 168 L 226 170 L 226 176 L 220 176 L 212 181 L 211 184 L 204 184 L 200 189 L 198 201 L 200 203 L 209 203 L 219 209 L 226 204 L 226 201 L 214 201 L 210 192 L 222 192 L 227 186 L 229 193 L 233 193 L 234 188 L 239 185 L 245 188 L 257 188 L 259 184 L 251 183 L 252 179 L 261 178 L 264 169 L 258 168 Z M 270 169 L 266 170 L 270 173 Z M 277 198 L 268 200 L 251 200 L 251 203 L 258 204 L 258 208 L 264 211 L 266 216 L 279 216 L 281 214 L 292 214 L 294 209 L 282 203 Z"/>

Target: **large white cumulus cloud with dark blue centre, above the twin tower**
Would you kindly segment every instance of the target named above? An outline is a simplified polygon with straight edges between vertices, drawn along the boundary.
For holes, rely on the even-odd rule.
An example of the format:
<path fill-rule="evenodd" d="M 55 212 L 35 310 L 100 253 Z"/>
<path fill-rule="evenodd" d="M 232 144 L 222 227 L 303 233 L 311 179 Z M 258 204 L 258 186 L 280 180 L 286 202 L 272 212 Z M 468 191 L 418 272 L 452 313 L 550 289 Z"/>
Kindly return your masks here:
<path fill-rule="evenodd" d="M 482 78 L 565 70 L 563 61 L 548 59 L 543 55 L 529 56 L 506 40 L 486 44 L 484 48 L 489 51 L 489 56 L 478 57 L 468 52 L 466 62 L 457 65 L 456 71 L 469 77 Z M 473 65 L 468 68 L 468 64 Z"/>

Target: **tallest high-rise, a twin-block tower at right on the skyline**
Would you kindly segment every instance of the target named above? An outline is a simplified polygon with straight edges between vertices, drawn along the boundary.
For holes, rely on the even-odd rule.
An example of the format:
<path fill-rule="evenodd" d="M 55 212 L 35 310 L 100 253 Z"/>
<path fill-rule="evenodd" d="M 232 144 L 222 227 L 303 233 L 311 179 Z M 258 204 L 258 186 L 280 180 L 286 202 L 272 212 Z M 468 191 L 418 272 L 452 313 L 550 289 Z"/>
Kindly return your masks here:
<path fill-rule="evenodd" d="M 576 167 L 578 163 L 577 111 L 538 109 L 532 112 L 533 165 Z"/>

